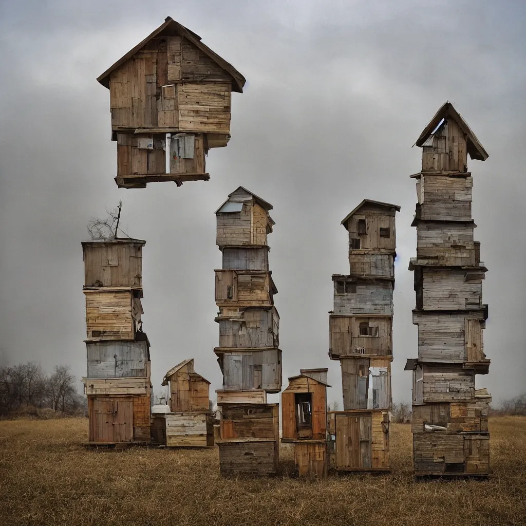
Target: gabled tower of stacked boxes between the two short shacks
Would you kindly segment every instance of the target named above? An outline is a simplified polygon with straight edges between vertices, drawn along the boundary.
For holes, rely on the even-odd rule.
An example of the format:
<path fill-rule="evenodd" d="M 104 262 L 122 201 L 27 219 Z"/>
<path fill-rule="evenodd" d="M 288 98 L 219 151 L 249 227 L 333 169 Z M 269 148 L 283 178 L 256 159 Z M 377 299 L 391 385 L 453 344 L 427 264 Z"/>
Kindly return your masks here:
<path fill-rule="evenodd" d="M 222 268 L 215 271 L 219 347 L 214 351 L 223 374 L 217 391 L 222 475 L 277 469 L 279 407 L 267 403 L 267 392 L 281 390 L 277 289 L 268 269 L 271 209 L 240 186 L 216 211 Z"/>

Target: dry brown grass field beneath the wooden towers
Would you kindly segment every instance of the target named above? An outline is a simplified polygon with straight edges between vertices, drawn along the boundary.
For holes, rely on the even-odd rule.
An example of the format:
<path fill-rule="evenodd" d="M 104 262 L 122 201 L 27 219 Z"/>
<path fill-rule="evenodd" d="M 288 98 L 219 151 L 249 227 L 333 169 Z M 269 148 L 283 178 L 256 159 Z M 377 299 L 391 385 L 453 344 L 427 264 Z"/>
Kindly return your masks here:
<path fill-rule="evenodd" d="M 87 419 L 0 421 L 0 524 L 526 524 L 526 418 L 490 419 L 489 480 L 414 481 L 408 424 L 392 473 L 295 478 L 290 452 L 270 479 L 219 477 L 210 450 L 90 451 Z"/>

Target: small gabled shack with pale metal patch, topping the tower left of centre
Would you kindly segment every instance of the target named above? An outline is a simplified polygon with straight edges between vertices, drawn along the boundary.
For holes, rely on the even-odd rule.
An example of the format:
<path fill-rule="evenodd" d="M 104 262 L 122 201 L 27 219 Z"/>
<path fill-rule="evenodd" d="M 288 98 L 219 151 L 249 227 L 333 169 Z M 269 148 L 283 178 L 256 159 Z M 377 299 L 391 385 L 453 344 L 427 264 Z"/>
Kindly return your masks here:
<path fill-rule="evenodd" d="M 216 210 L 217 238 L 219 250 L 226 247 L 266 247 L 267 235 L 272 232 L 274 221 L 269 215 L 272 205 L 267 203 L 246 188 L 240 186 L 228 195 L 228 199 Z M 234 261 L 245 259 L 247 252 L 236 250 L 229 252 L 230 257 L 236 254 Z M 251 258 L 260 257 L 261 251 L 249 252 Z M 268 257 L 268 256 L 267 256 Z M 225 264 L 225 260 L 223 261 Z M 241 270 L 244 264 L 229 266 Z M 225 266 L 223 267 L 225 268 Z"/>

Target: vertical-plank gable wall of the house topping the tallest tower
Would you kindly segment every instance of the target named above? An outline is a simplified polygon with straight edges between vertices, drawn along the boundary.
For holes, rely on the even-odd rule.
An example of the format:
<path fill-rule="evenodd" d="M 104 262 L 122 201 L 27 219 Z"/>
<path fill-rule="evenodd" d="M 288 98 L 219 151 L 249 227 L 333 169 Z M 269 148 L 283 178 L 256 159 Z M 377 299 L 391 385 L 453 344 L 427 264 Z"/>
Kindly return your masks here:
<path fill-rule="evenodd" d="M 453 120 L 445 120 L 422 146 L 422 171 L 458 171 L 468 169 L 465 134 Z"/>

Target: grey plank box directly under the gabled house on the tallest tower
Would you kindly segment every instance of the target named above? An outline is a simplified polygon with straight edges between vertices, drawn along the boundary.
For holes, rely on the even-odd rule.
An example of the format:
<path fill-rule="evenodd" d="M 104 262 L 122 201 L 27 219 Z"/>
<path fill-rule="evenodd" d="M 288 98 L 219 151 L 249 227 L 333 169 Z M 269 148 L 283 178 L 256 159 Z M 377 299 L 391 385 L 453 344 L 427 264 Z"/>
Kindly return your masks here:
<path fill-rule="evenodd" d="M 417 219 L 470 221 L 473 178 L 466 175 L 420 174 L 417 180 Z"/>

